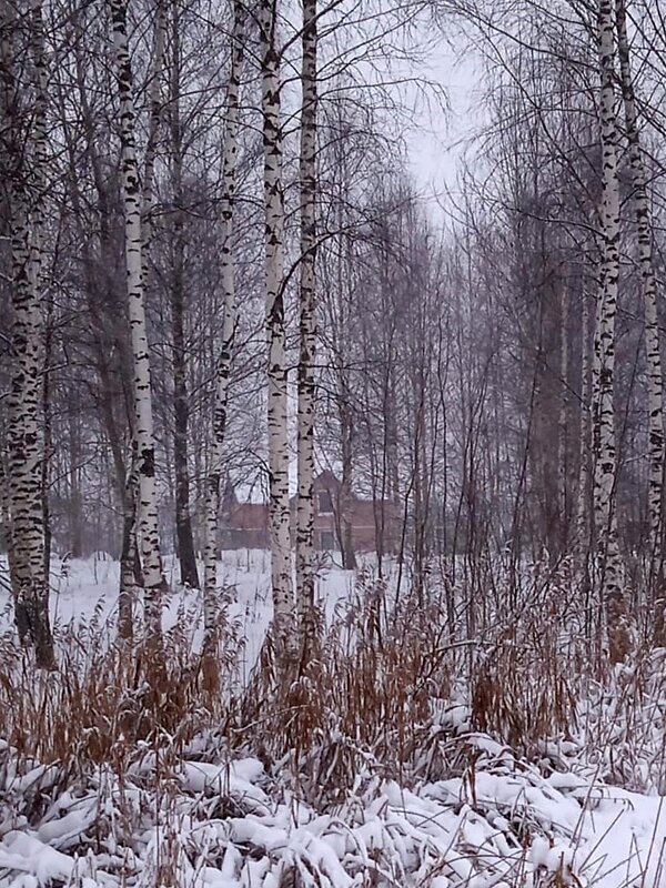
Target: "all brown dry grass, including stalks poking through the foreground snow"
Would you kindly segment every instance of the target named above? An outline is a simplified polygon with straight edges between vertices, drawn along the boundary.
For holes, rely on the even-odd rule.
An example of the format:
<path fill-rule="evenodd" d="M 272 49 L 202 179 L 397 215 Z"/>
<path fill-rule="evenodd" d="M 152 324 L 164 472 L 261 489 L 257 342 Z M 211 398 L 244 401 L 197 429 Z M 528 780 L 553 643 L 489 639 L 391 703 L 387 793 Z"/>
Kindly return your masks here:
<path fill-rule="evenodd" d="M 319 811 L 371 798 L 377 778 L 408 787 L 456 776 L 472 809 L 483 814 L 486 803 L 475 794 L 475 730 L 506 744 L 508 761 L 567 767 L 551 747 L 568 739 L 567 748 L 599 777 L 660 788 L 663 652 L 645 647 L 632 668 L 615 673 L 601 663 L 591 669 L 589 642 L 577 635 L 567 583 L 566 569 L 535 571 L 511 612 L 492 613 L 484 604 L 480 635 L 468 639 L 452 630 L 451 603 L 445 606 L 436 588 L 425 605 L 410 596 L 392 605 L 385 585 L 362 575 L 327 626 L 319 615 L 311 660 L 291 685 L 276 683 L 269 640 L 242 693 L 238 628 L 223 622 L 216 656 L 203 659 L 193 646 L 195 616 L 184 609 L 155 656 L 141 639 L 117 644 L 100 608 L 90 625 L 59 634 L 57 673 L 36 673 L 7 634 L 0 638 L 0 736 L 12 748 L 12 767 L 53 766 L 20 800 L 21 816 L 38 823 L 59 794 L 97 768 L 118 783 L 113 817 L 123 820 L 123 835 L 132 835 L 149 803 L 122 801 L 131 774 L 134 791 L 144 785 L 150 805 L 169 824 L 143 884 L 175 885 L 184 859 L 182 815 L 170 806 L 185 754 L 214 761 L 252 754 Z M 456 596 L 464 609 L 464 589 Z M 511 767 L 503 754 L 497 761 Z M 9 767 L 7 748 L 0 767 Z M 229 811 L 235 816 L 234 806 L 233 799 L 201 798 L 192 811 L 214 810 L 224 819 Z M 100 847 L 112 828 L 105 818 L 95 815 Z M 511 829 L 527 848 L 539 826 L 524 811 Z M 82 840 L 82 857 L 91 840 Z M 516 888 L 525 881 L 524 862 L 516 858 Z M 438 866 L 427 869 L 424 886 Z M 310 885 L 304 872 L 285 870 L 284 884 Z M 575 885 L 573 878 L 563 869 L 544 874 L 541 884 Z M 369 879 L 374 884 L 372 874 Z"/>

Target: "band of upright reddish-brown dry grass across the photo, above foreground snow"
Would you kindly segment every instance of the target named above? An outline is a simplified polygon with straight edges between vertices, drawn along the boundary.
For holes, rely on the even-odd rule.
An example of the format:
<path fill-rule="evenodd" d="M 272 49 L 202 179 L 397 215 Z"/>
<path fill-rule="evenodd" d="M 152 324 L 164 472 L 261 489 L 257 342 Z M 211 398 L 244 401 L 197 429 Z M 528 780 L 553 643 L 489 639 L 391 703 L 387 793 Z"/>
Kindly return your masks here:
<path fill-rule="evenodd" d="M 433 754 L 433 737 L 443 745 L 436 714 L 463 703 L 473 728 L 521 756 L 538 756 L 547 738 L 584 736 L 589 748 L 609 750 L 607 770 L 617 780 L 618 758 L 636 773 L 638 759 L 652 756 L 650 779 L 660 785 L 655 725 L 666 679 L 659 654 L 644 648 L 619 678 L 598 663 L 591 668 L 567 584 L 566 568 L 535 571 L 511 612 L 488 615 L 484 605 L 480 635 L 456 639 L 450 606 L 436 591 L 425 604 L 403 596 L 392 605 L 385 585 L 364 574 L 329 626 L 319 614 L 316 644 L 296 680 L 279 686 L 269 639 L 241 690 L 236 626 L 223 620 L 216 656 L 202 658 L 193 649 L 193 613 L 179 614 L 155 652 L 141 639 L 119 644 L 100 607 L 90 625 L 59 634 L 56 673 L 36 672 L 13 633 L 0 637 L 0 736 L 22 757 L 104 763 L 120 771 L 138 749 L 178 749 L 215 730 L 229 748 L 268 764 L 289 758 L 295 773 L 307 775 L 309 796 L 316 791 L 330 804 L 370 760 L 403 781 L 424 761 L 444 775 L 454 765 Z M 622 741 L 608 731 L 618 720 Z M 456 730 L 452 725 L 450 734 Z"/>

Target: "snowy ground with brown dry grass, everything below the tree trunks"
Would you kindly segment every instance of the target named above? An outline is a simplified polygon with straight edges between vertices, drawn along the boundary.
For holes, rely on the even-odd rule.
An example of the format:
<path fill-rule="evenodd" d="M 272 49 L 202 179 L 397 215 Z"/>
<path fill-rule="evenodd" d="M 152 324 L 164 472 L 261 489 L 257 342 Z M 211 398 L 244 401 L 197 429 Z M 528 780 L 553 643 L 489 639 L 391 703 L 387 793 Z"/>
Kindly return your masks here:
<path fill-rule="evenodd" d="M 420 619 L 369 563 L 323 571 L 321 649 L 276 692 L 266 556 L 243 552 L 219 672 L 184 591 L 151 686 L 114 640 L 118 569 L 56 562 L 58 673 L 36 677 L 4 623 L 0 885 L 666 884 L 660 652 L 594 676 L 562 648 L 563 612 L 472 655 L 434 594 Z"/>

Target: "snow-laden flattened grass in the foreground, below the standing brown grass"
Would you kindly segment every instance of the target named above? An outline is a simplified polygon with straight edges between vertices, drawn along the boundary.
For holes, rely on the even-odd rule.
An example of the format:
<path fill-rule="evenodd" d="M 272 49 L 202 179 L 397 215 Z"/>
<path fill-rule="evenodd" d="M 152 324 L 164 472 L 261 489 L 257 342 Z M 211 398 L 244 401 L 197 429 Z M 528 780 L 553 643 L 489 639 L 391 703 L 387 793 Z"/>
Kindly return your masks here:
<path fill-rule="evenodd" d="M 20 803 L 13 818 L 3 806 L 0 885 L 666 885 L 660 798 L 491 758 L 480 767 L 473 780 L 412 788 L 360 775 L 346 800 L 323 813 L 252 758 L 185 758 L 152 790 L 145 771 L 121 784 L 100 769 L 38 825 Z M 6 793 L 13 789 L 10 780 Z"/>

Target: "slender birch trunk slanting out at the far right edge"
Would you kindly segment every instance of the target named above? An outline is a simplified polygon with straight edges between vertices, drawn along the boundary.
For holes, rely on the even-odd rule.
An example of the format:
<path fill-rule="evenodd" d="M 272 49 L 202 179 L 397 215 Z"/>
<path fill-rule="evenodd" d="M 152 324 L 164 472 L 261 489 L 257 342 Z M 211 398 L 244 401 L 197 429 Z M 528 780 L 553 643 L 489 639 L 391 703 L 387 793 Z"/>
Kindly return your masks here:
<path fill-rule="evenodd" d="M 647 507 L 649 517 L 650 579 L 655 571 L 660 571 L 662 526 L 664 496 L 664 381 L 659 350 L 659 326 L 657 317 L 657 282 L 655 279 L 652 219 L 645 179 L 645 165 L 638 132 L 638 114 L 634 95 L 634 81 L 629 59 L 627 22 L 624 0 L 615 0 L 615 23 L 617 28 L 617 52 L 624 102 L 629 168 L 634 185 L 636 225 L 638 232 L 638 263 L 645 312 L 645 351 L 647 363 L 647 397 L 649 417 L 649 477 Z"/>

